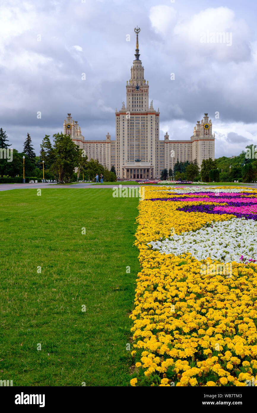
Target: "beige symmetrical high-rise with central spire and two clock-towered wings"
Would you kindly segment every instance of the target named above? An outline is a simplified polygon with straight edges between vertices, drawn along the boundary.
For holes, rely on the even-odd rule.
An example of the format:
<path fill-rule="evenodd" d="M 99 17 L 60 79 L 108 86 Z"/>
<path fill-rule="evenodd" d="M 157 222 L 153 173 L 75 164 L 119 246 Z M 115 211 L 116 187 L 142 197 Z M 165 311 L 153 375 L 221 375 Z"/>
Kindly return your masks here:
<path fill-rule="evenodd" d="M 149 84 L 144 78 L 144 66 L 139 59 L 138 34 L 136 33 L 136 53 L 130 68 L 130 79 L 126 85 L 126 104 L 119 111 L 116 108 L 116 137 L 111 140 L 107 133 L 105 140 L 85 140 L 77 121 L 68 113 L 64 120 L 64 134 L 81 149 L 88 159 L 98 159 L 109 170 L 114 165 L 120 178 L 160 178 L 161 171 L 174 169 L 179 161 L 215 159 L 215 135 L 212 135 L 212 121 L 205 113 L 197 121 L 189 140 L 170 140 L 164 135 L 160 140 L 160 112 L 149 105 Z"/>

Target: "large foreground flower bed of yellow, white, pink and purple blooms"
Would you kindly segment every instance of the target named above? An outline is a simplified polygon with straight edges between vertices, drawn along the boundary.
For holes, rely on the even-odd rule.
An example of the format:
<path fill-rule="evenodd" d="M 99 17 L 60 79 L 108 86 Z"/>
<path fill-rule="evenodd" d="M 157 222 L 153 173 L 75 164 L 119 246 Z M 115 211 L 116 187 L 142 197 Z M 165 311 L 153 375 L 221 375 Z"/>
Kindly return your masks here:
<path fill-rule="evenodd" d="M 247 188 L 145 188 L 132 386 L 257 379 L 256 204 Z"/>

